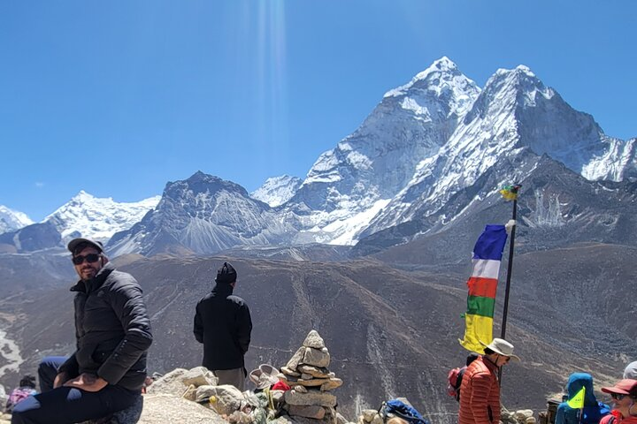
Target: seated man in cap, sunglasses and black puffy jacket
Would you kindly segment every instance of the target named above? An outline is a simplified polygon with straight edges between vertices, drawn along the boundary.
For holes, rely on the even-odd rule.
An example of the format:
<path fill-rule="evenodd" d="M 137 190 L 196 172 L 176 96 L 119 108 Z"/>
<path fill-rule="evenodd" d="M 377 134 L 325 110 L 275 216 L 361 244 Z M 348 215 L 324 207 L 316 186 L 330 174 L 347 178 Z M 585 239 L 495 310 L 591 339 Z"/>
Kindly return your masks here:
<path fill-rule="evenodd" d="M 12 424 L 65 424 L 109 416 L 134 404 L 152 343 L 142 289 L 109 263 L 91 239 L 68 244 L 80 281 L 75 292 L 77 350 L 58 369 L 53 388 L 25 399 Z"/>

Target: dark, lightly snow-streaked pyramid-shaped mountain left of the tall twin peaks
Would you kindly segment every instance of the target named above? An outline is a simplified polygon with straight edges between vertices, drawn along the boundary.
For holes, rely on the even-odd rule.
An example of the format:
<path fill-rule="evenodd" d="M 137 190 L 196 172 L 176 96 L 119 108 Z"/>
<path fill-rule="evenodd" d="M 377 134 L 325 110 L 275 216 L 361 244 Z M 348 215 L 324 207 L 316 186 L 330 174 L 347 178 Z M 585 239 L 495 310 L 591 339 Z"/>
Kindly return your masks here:
<path fill-rule="evenodd" d="M 294 228 L 242 187 L 196 172 L 168 183 L 155 210 L 113 236 L 113 255 L 211 254 L 234 246 L 284 243 Z"/>

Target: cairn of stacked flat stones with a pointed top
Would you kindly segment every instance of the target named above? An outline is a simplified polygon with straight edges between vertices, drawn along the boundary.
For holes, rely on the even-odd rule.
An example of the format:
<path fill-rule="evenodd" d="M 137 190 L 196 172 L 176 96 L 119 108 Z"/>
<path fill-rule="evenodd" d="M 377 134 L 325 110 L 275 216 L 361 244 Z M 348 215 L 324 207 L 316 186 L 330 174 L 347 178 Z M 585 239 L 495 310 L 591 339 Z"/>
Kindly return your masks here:
<path fill-rule="evenodd" d="M 312 329 L 288 364 L 280 368 L 280 381 L 292 388 L 284 397 L 291 417 L 336 422 L 336 397 L 330 391 L 340 387 L 342 380 L 327 369 L 329 364 L 325 342 Z"/>

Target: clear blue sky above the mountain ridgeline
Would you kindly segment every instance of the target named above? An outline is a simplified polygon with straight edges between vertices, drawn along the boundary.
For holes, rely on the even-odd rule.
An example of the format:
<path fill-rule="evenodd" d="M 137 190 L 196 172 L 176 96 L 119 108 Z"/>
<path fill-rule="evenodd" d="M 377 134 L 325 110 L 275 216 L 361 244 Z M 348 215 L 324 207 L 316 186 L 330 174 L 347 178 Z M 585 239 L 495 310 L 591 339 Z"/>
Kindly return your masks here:
<path fill-rule="evenodd" d="M 196 170 L 303 178 L 442 56 L 480 86 L 526 64 L 632 138 L 636 19 L 632 0 L 2 2 L 0 204 L 41 220 Z"/>

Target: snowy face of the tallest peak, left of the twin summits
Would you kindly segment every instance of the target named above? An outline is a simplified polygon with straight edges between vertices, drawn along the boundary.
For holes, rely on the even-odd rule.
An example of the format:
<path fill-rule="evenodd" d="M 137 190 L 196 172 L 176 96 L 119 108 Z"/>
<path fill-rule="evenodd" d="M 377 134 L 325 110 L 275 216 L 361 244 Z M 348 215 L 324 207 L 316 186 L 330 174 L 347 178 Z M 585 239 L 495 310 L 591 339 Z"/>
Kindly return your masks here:
<path fill-rule="evenodd" d="M 288 201 L 289 210 L 305 216 L 302 230 L 311 229 L 298 239 L 352 244 L 361 222 L 403 189 L 423 158 L 437 153 L 479 93 L 447 57 L 390 90 L 355 133 L 319 156 Z"/>

